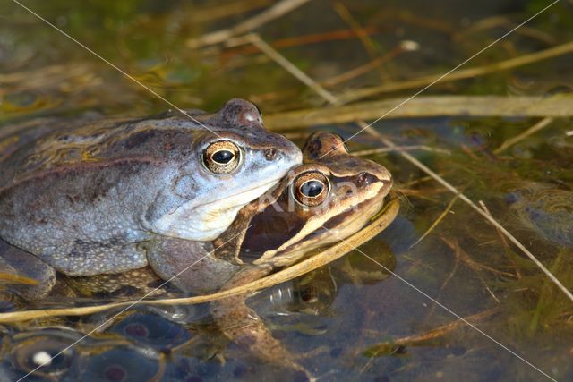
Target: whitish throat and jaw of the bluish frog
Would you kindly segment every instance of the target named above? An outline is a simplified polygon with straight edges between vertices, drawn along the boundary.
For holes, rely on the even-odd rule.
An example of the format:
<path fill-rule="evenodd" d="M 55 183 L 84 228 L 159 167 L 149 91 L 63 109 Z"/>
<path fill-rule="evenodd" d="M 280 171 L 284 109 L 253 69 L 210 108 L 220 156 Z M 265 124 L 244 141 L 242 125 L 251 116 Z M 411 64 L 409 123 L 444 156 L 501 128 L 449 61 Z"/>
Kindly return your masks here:
<path fill-rule="evenodd" d="M 158 219 L 154 224 L 154 231 L 186 240 L 201 242 L 215 240 L 227 230 L 241 208 L 252 200 L 261 197 L 280 179 L 270 180 L 231 196 L 212 200 L 201 206 L 192 202 L 184 203 L 173 212 Z"/>

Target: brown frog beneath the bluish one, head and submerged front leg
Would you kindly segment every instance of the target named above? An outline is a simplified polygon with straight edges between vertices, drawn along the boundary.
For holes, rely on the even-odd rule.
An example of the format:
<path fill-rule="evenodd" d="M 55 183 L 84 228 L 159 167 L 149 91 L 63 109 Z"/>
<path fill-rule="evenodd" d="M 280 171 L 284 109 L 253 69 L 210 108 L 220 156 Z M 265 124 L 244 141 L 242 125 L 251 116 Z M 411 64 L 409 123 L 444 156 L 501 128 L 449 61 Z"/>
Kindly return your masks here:
<path fill-rule="evenodd" d="M 215 241 L 244 232 L 240 248 L 218 251 L 237 261 L 249 260 L 222 289 L 266 276 L 293 264 L 309 250 L 344 240 L 360 230 L 378 211 L 392 186 L 388 170 L 370 160 L 348 155 L 336 134 L 317 132 L 303 149 L 304 165 L 296 167 L 277 187 L 276 199 L 241 210 L 233 225 Z M 249 227 L 244 231 L 244 227 Z M 215 301 L 211 314 L 222 332 L 244 344 L 262 361 L 310 374 L 274 338 L 240 295 Z"/>

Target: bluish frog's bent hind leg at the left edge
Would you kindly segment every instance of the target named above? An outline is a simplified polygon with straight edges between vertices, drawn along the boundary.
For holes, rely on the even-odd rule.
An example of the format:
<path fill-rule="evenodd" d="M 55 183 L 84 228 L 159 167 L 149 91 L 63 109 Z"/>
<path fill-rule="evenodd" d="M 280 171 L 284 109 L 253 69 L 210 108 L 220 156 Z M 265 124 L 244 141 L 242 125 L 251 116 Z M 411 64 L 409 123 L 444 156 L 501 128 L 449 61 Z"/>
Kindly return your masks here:
<path fill-rule="evenodd" d="M 6 276 L 13 276 L 10 290 L 27 301 L 47 297 L 56 284 L 56 270 L 30 252 L 0 240 L 0 267 Z M 6 280 L 8 281 L 8 280 Z"/>

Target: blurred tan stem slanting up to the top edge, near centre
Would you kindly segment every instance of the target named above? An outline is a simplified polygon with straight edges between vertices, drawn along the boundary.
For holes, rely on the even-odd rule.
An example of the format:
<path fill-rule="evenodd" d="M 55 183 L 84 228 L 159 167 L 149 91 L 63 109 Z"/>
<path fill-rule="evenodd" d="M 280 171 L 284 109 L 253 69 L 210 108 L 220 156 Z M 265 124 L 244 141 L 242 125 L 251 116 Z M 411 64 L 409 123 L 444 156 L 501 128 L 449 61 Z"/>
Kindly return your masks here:
<path fill-rule="evenodd" d="M 241 21 L 229 29 L 217 30 L 215 32 L 207 33 L 200 38 L 189 39 L 186 42 L 186 46 L 196 48 L 221 43 L 228 38 L 233 38 L 251 30 L 255 30 L 261 27 L 261 25 L 278 19 L 278 17 L 281 17 L 308 2 L 309 0 L 281 0 L 269 9 L 252 16 L 245 21 Z"/>

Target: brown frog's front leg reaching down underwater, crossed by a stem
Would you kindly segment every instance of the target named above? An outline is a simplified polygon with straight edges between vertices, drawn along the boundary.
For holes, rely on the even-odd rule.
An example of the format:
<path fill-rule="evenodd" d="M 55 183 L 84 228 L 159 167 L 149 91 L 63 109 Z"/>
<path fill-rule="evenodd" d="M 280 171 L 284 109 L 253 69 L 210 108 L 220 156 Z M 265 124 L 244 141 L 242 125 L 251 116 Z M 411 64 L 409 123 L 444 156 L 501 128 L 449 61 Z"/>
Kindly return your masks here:
<path fill-rule="evenodd" d="M 223 289 L 252 281 L 268 272 L 268 267 L 245 268 L 231 278 Z M 223 334 L 239 347 L 248 349 L 259 360 L 294 369 L 309 380 L 315 380 L 316 378 L 296 361 L 296 357 L 271 335 L 261 317 L 246 306 L 245 298 L 245 295 L 238 295 L 212 303 L 211 315 Z"/>

